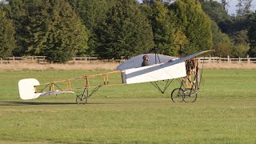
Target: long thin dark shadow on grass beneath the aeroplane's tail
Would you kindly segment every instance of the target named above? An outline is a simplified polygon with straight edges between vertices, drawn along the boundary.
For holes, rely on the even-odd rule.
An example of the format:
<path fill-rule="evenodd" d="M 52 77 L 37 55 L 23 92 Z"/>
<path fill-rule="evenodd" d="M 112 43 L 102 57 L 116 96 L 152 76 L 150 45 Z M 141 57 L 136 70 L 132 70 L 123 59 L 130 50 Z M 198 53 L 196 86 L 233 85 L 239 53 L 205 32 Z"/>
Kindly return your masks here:
<path fill-rule="evenodd" d="M 106 104 L 106 103 L 86 103 L 79 105 L 90 104 Z M 78 105 L 76 102 L 0 102 L 0 106 L 30 106 L 30 105 Z M 79 106 L 78 105 L 78 106 Z"/>

